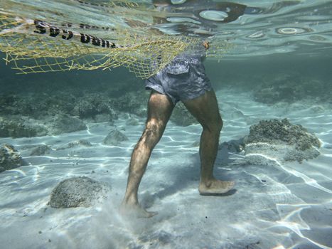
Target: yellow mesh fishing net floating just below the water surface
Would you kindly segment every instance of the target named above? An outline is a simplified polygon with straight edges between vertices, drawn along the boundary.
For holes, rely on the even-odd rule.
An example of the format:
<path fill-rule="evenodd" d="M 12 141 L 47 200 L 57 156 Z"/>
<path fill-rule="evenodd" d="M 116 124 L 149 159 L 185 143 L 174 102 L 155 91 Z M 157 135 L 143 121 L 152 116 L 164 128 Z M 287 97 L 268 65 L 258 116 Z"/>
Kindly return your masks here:
<path fill-rule="evenodd" d="M 136 6 L 125 1 L 119 3 L 124 5 L 122 9 Z M 124 66 L 139 78 L 149 78 L 176 55 L 201 42 L 188 36 L 156 32 L 146 35 L 139 28 L 136 27 L 136 34 L 132 29 L 113 28 L 112 38 L 104 39 L 75 28 L 70 30 L 0 11 L 0 51 L 6 53 L 6 63 L 23 74 Z M 226 47 L 223 46 L 223 51 Z"/>

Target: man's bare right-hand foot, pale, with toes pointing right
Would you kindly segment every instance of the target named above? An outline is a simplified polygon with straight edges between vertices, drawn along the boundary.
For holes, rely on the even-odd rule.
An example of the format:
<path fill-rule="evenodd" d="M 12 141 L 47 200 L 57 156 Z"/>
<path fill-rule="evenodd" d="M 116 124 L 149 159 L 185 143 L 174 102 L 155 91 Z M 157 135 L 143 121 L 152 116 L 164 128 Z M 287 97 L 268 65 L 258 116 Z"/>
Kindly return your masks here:
<path fill-rule="evenodd" d="M 235 185 L 235 181 L 220 181 L 213 179 L 208 183 L 200 181 L 198 191 L 200 194 L 225 194 Z"/>

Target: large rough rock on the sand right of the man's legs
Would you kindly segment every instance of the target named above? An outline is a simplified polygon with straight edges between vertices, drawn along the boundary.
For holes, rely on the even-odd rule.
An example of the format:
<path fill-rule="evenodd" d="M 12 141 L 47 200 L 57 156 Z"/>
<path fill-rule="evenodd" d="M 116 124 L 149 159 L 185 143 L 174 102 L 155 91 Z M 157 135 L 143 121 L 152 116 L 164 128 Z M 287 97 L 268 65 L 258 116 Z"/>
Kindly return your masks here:
<path fill-rule="evenodd" d="M 245 138 L 245 156 L 250 163 L 303 161 L 320 154 L 321 142 L 299 124 L 289 120 L 262 120 L 250 127 Z"/>

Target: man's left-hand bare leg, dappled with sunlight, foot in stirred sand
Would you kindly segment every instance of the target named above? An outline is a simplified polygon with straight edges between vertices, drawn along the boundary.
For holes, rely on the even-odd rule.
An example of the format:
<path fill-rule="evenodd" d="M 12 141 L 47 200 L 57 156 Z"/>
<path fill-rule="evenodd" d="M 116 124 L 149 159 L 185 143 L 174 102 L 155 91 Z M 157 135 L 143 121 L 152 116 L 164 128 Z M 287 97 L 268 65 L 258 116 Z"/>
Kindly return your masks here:
<path fill-rule="evenodd" d="M 166 95 L 155 91 L 151 92 L 148 103 L 146 127 L 134 148 L 129 164 L 127 189 L 121 208 L 121 211 L 124 213 L 134 213 L 134 215 L 139 217 L 151 217 L 156 215 L 156 213 L 145 211 L 139 206 L 137 192 L 152 149 L 154 149 L 161 139 L 169 117 L 171 117 L 173 107 L 173 103 Z"/>

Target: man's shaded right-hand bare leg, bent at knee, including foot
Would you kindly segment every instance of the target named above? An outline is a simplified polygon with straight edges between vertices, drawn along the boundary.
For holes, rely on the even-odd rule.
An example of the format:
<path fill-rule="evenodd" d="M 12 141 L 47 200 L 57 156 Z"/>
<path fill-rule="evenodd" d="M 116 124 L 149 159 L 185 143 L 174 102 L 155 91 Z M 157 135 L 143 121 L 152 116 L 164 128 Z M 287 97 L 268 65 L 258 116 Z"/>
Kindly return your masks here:
<path fill-rule="evenodd" d="M 232 189 L 233 181 L 220 181 L 213 176 L 213 164 L 218 153 L 220 131 L 223 120 L 213 90 L 193 100 L 183 101 L 188 111 L 203 126 L 200 137 L 200 194 L 223 194 Z"/>

